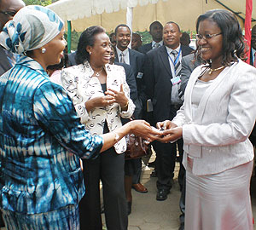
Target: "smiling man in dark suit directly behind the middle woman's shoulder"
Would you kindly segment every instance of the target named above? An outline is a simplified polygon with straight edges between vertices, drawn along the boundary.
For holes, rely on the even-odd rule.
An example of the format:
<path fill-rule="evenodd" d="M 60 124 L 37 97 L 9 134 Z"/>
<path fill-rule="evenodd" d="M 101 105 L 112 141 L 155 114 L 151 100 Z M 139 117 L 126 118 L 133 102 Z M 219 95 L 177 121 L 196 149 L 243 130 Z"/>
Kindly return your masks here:
<path fill-rule="evenodd" d="M 115 62 L 130 65 L 136 78 L 138 100 L 134 101 L 136 105 L 134 118 L 143 118 L 143 112 L 145 110 L 147 100 L 147 96 L 145 94 L 145 83 L 143 79 L 144 55 L 134 49 L 128 48 L 128 45 L 131 42 L 131 30 L 129 26 L 120 24 L 115 28 L 114 34 L 116 38 Z M 140 183 L 142 163 L 140 159 L 137 159 L 137 161 L 137 176 L 135 176 L 132 187 L 134 187 L 139 193 L 147 193 L 147 188 L 143 187 L 143 185 Z"/>

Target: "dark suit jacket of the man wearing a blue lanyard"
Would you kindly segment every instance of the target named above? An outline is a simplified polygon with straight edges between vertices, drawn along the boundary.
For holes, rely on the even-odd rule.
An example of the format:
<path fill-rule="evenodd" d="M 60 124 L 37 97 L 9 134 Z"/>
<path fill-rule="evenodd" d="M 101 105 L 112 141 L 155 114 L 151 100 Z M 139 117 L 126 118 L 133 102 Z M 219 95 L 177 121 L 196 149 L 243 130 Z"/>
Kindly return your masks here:
<path fill-rule="evenodd" d="M 183 45 L 181 49 L 183 56 L 193 51 L 190 47 Z M 152 49 L 146 54 L 144 74 L 146 93 L 153 103 L 154 122 L 172 119 L 173 117 L 170 118 L 172 72 L 166 46 Z"/>

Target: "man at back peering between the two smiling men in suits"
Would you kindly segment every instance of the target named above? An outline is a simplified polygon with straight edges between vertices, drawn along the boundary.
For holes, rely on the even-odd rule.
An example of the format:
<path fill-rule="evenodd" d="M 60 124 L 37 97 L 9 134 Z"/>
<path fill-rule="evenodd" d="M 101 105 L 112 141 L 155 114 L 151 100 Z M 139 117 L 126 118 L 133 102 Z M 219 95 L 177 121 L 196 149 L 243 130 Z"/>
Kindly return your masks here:
<path fill-rule="evenodd" d="M 155 20 L 149 26 L 149 33 L 152 37 L 152 43 L 147 43 L 141 46 L 138 51 L 146 54 L 149 50 L 158 48 L 163 45 L 163 25 Z"/>

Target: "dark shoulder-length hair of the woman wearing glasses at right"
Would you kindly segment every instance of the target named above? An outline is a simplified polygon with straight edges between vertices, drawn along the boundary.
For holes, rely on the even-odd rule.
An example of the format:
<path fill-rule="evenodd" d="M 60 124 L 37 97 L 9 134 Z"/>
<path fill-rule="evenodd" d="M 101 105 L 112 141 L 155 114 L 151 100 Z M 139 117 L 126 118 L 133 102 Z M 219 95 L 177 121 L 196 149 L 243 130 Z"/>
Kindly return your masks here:
<path fill-rule="evenodd" d="M 196 21 L 196 32 L 203 20 L 214 21 L 223 35 L 223 65 L 229 65 L 231 61 L 244 59 L 245 44 L 236 15 L 226 9 L 212 9 L 201 14 Z M 208 60 L 209 62 L 209 60 Z"/>

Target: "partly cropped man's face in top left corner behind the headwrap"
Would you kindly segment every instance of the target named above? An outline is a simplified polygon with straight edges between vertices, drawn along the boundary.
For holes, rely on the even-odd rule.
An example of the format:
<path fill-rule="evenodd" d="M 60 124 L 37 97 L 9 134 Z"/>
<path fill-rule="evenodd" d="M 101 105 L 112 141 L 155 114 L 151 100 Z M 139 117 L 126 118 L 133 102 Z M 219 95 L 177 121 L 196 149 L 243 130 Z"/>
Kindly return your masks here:
<path fill-rule="evenodd" d="M 24 6 L 25 3 L 21 0 L 2 0 L 0 3 L 0 32 L 2 32 L 5 23 L 12 20 L 14 15 Z"/>

